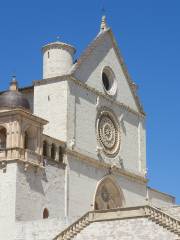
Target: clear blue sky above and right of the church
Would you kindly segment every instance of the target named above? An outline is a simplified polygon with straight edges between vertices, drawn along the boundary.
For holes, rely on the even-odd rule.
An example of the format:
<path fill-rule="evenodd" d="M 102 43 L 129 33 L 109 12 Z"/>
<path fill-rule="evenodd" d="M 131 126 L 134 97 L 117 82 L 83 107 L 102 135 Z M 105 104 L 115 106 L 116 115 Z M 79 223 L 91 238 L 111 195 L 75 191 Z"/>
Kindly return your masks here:
<path fill-rule="evenodd" d="M 180 202 L 180 1 L 31 0 L 0 2 L 0 88 L 41 79 L 41 47 L 60 36 L 77 56 L 99 31 L 106 9 L 147 113 L 149 185 Z"/>

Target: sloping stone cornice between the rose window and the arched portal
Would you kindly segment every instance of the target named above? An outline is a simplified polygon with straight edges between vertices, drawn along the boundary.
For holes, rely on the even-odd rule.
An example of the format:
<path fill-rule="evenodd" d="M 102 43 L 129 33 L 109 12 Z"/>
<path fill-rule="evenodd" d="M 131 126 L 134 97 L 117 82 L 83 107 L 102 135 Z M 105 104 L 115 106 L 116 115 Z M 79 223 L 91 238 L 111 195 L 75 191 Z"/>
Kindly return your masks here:
<path fill-rule="evenodd" d="M 84 161 L 84 162 L 86 162 L 88 164 L 91 164 L 92 166 L 95 166 L 95 167 L 98 167 L 98 168 L 105 168 L 107 170 L 112 171 L 115 174 L 118 174 L 118 175 L 121 175 L 121 176 L 125 176 L 125 177 L 127 177 L 127 178 L 129 178 L 131 180 L 133 179 L 134 181 L 137 181 L 137 182 L 140 182 L 140 183 L 143 183 L 143 184 L 144 183 L 146 184 L 148 182 L 148 179 L 146 179 L 143 176 L 140 176 L 140 175 L 134 174 L 132 172 L 129 172 L 127 170 L 124 170 L 124 169 L 112 166 L 109 163 L 98 161 L 97 159 L 94 159 L 92 157 L 86 156 L 86 155 L 84 155 L 82 153 L 79 153 L 77 151 L 71 150 L 69 148 L 67 148 L 65 150 L 65 153 L 67 155 L 71 155 L 73 157 L 76 157 L 77 160 Z"/>

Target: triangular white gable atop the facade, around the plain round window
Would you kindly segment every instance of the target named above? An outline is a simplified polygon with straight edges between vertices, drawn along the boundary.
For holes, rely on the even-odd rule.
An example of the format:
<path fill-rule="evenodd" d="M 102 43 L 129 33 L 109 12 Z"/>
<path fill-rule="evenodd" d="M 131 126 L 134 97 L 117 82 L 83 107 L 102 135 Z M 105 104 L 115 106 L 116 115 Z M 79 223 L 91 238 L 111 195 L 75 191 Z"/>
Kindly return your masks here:
<path fill-rule="evenodd" d="M 122 84 L 123 88 L 120 86 L 121 89 L 118 89 L 119 97 L 117 94 L 116 100 L 133 108 L 135 111 L 144 114 L 142 105 L 136 95 L 135 84 L 132 82 L 128 74 L 127 68 L 110 28 L 99 33 L 90 43 L 85 52 L 80 56 L 77 63 L 74 65 L 71 74 L 78 80 L 85 82 L 90 87 L 103 91 L 103 88 L 97 84 L 101 84 L 101 80 L 97 80 L 101 79 L 101 68 L 103 64 L 107 65 L 108 63 L 115 65 L 116 69 L 118 69 L 116 70 L 117 80 L 120 77 L 120 73 L 121 81 L 123 81 L 122 78 L 125 79 Z M 123 94 L 125 94 L 125 96 L 122 98 Z"/>

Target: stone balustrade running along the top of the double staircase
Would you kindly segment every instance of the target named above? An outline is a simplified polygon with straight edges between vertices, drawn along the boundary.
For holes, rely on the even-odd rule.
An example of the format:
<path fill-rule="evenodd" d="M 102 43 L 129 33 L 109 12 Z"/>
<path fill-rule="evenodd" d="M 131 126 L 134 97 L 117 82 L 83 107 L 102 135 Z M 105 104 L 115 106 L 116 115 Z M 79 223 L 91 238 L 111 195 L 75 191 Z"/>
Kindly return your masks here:
<path fill-rule="evenodd" d="M 90 223 L 132 218 L 148 218 L 166 230 L 180 237 L 180 220 L 152 206 L 136 206 L 111 210 L 90 211 L 66 228 L 53 240 L 71 240 Z M 180 238 L 179 238 L 180 239 Z"/>

